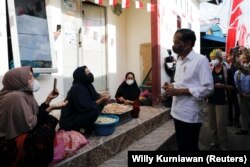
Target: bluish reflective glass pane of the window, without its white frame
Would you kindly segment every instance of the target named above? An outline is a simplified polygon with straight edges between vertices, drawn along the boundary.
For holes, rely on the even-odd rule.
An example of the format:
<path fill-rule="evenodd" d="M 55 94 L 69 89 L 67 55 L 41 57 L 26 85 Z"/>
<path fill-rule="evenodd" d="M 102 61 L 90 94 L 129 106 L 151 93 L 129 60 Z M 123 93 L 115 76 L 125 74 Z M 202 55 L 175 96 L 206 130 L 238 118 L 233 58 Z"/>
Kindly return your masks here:
<path fill-rule="evenodd" d="M 45 0 L 15 0 L 21 65 L 51 68 Z"/>

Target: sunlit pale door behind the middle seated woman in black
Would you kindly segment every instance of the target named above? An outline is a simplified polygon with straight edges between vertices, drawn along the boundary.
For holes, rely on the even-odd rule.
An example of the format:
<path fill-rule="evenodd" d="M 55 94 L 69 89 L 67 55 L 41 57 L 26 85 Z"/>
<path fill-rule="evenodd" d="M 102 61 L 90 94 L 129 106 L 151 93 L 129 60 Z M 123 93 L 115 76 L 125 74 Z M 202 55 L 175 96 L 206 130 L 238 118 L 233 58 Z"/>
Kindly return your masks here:
<path fill-rule="evenodd" d="M 107 90 L 107 52 L 105 7 L 82 2 L 81 65 L 89 67 L 95 76 L 97 91 Z"/>

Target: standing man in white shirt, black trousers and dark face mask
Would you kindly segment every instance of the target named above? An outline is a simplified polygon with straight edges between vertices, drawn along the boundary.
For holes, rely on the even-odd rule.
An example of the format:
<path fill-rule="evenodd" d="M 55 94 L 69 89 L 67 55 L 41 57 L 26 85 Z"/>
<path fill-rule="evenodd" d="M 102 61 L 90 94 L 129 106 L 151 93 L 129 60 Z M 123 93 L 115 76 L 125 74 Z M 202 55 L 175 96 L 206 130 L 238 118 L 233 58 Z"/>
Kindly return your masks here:
<path fill-rule="evenodd" d="M 195 41 L 195 33 L 190 29 L 175 32 L 172 47 L 178 56 L 175 82 L 163 86 L 166 95 L 173 96 L 171 115 L 179 151 L 199 151 L 203 100 L 214 89 L 209 61 L 193 51 Z"/>

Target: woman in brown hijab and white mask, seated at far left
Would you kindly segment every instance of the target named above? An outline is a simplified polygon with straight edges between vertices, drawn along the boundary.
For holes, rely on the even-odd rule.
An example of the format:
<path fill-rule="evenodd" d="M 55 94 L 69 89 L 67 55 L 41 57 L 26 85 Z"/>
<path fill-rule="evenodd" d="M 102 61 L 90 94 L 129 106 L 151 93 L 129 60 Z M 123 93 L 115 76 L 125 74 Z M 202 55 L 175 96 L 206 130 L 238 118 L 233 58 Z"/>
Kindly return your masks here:
<path fill-rule="evenodd" d="M 55 127 L 49 115 L 67 102 L 50 105 L 58 90 L 51 91 L 41 106 L 33 92 L 40 86 L 29 66 L 6 72 L 0 91 L 0 166 L 45 167 L 53 160 Z"/>

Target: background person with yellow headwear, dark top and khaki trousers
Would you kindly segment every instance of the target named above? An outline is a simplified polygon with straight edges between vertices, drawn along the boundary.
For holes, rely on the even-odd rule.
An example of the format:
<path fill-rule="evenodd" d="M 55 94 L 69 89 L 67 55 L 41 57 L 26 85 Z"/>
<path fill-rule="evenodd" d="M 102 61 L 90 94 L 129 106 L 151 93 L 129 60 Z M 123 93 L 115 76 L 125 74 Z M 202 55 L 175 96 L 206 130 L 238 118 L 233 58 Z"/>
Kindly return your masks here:
<path fill-rule="evenodd" d="M 211 134 L 211 149 L 227 149 L 228 97 L 234 89 L 232 77 L 223 63 L 222 50 L 210 53 L 214 93 L 208 98 L 208 121 Z M 231 80 L 230 80 L 231 79 Z"/>

